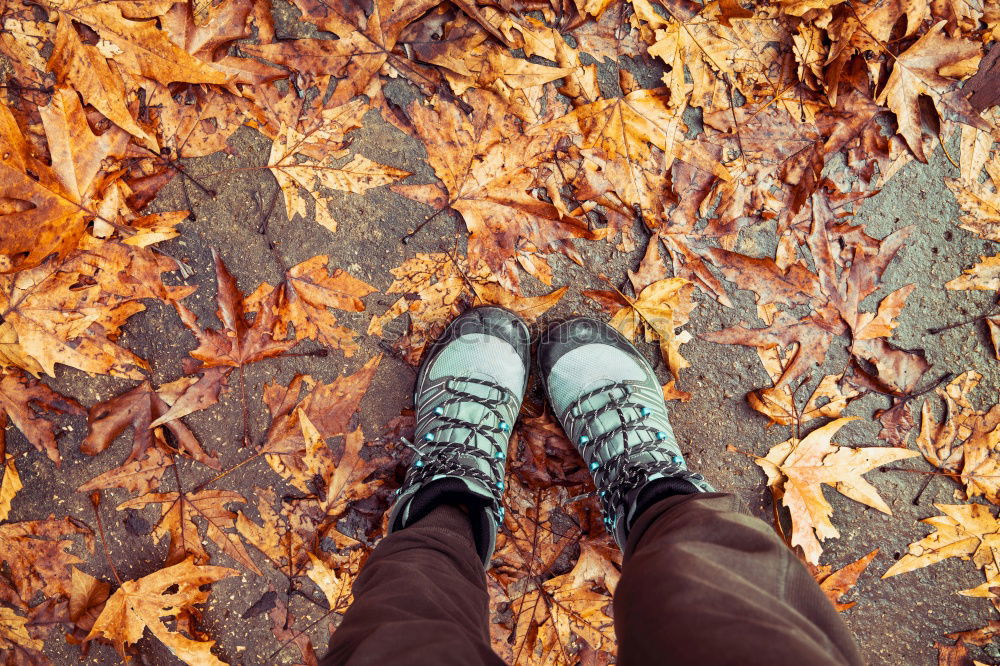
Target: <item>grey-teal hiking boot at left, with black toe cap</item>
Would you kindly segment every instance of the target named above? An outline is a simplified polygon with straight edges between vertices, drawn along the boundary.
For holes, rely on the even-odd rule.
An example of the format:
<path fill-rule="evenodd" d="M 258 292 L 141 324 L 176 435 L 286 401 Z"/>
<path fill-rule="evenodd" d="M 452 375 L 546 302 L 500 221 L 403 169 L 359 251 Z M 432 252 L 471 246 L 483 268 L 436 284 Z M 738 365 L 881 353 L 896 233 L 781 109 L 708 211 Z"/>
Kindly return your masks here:
<path fill-rule="evenodd" d="M 478 307 L 424 353 L 413 393 L 417 457 L 389 512 L 389 532 L 443 502 L 469 508 L 483 564 L 503 522 L 507 443 L 528 383 L 531 340 L 517 315 Z"/>

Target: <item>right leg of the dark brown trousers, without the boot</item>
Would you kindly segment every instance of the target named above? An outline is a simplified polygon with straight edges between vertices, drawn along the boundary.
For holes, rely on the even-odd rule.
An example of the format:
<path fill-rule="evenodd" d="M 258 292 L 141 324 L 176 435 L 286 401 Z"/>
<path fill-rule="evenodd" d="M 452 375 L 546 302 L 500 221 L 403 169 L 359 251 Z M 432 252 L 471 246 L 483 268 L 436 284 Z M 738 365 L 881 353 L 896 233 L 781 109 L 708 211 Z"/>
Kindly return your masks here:
<path fill-rule="evenodd" d="M 806 568 L 738 505 L 693 493 L 639 515 L 615 591 L 618 663 L 863 663 Z"/>

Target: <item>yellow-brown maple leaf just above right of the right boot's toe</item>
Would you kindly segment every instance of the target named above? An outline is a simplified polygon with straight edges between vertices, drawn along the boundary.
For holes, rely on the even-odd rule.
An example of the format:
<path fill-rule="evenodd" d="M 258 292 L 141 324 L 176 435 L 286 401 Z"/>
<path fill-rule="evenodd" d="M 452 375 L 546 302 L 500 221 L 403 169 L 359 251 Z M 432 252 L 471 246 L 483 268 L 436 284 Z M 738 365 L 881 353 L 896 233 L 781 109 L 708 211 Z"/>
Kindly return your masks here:
<path fill-rule="evenodd" d="M 646 342 L 659 340 L 660 353 L 675 379 L 690 364 L 680 354 L 680 346 L 691 339 L 677 328 L 687 323 L 695 303 L 691 300 L 694 285 L 683 278 L 667 278 L 649 285 L 631 299 L 617 291 L 586 291 L 588 296 L 611 310 L 611 326 L 629 340 L 645 331 Z"/>

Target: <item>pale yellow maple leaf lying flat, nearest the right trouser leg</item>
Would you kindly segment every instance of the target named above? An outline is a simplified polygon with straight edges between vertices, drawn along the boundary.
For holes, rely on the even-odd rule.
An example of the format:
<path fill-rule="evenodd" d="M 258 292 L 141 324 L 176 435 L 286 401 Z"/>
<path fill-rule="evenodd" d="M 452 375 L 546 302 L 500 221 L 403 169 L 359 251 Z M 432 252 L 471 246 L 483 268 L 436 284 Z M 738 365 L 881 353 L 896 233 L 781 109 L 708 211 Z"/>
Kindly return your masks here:
<path fill-rule="evenodd" d="M 761 458 L 754 458 L 767 474 L 775 501 L 781 500 L 792 517 L 792 546 L 800 546 L 806 561 L 817 564 L 822 553 L 820 541 L 840 536 L 830 522 L 833 507 L 823 497 L 822 484 L 839 493 L 892 515 L 878 491 L 862 474 L 897 460 L 919 455 L 895 447 L 852 449 L 831 439 L 855 417 L 839 418 L 817 428 L 802 439 L 791 438 L 777 444 Z"/>

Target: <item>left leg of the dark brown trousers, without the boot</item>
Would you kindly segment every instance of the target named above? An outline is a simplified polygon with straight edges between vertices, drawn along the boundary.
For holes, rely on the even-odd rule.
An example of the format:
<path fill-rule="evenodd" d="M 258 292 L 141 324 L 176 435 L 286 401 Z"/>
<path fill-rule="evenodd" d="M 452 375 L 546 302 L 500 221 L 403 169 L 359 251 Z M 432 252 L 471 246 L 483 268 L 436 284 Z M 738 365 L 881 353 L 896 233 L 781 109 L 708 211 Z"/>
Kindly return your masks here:
<path fill-rule="evenodd" d="M 383 539 L 324 665 L 502 664 L 490 649 L 489 593 L 469 517 L 441 504 Z"/>

